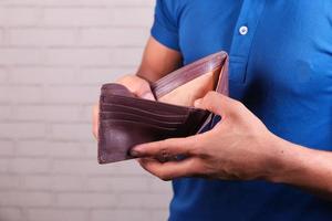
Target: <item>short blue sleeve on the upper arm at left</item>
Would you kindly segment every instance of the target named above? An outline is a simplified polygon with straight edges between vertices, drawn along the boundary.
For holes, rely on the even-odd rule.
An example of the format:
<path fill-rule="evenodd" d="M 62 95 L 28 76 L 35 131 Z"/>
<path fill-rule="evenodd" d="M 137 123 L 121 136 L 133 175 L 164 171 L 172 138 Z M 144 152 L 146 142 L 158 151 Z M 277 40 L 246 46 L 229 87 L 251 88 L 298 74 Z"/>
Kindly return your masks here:
<path fill-rule="evenodd" d="M 151 29 L 151 34 L 159 43 L 165 46 L 179 51 L 178 44 L 178 27 L 174 4 L 176 1 L 157 0 L 155 7 L 154 23 Z"/>

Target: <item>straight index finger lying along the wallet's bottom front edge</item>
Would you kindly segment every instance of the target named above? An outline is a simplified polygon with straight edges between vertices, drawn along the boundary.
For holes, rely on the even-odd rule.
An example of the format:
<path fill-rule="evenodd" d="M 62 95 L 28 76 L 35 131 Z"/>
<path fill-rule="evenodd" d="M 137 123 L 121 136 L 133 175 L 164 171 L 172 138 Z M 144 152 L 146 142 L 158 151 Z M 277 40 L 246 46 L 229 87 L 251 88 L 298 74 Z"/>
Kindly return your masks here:
<path fill-rule="evenodd" d="M 194 156 L 199 144 L 200 135 L 186 137 L 186 138 L 173 138 L 165 139 L 155 143 L 142 144 L 135 146 L 131 150 L 133 157 L 156 157 L 156 158 L 169 158 L 177 155 Z"/>

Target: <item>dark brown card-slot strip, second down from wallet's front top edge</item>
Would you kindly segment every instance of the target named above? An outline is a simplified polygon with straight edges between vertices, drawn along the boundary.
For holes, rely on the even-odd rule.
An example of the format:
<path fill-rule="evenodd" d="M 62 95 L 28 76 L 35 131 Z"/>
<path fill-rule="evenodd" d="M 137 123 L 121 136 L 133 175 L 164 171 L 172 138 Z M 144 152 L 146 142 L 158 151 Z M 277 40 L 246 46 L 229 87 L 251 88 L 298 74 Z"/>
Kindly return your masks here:
<path fill-rule="evenodd" d="M 188 114 L 188 107 L 185 106 L 170 105 L 166 103 L 142 99 L 136 97 L 110 95 L 110 96 L 103 96 L 102 102 L 111 103 L 111 104 L 121 104 L 125 106 L 135 105 L 136 108 L 148 109 L 148 110 L 156 112 L 158 114 L 169 114 L 169 113 L 175 113 L 179 115 Z"/>

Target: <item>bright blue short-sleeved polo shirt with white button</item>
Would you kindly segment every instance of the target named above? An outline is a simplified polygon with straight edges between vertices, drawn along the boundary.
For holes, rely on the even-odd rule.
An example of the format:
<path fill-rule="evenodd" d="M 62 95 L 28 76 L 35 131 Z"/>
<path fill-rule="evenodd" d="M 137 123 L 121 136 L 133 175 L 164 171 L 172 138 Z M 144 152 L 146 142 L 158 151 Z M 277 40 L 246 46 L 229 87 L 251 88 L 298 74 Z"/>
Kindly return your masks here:
<path fill-rule="evenodd" d="M 157 0 L 152 35 L 184 64 L 227 51 L 231 97 L 279 137 L 332 150 L 331 0 Z M 331 202 L 286 185 L 173 186 L 170 221 L 332 220 Z"/>

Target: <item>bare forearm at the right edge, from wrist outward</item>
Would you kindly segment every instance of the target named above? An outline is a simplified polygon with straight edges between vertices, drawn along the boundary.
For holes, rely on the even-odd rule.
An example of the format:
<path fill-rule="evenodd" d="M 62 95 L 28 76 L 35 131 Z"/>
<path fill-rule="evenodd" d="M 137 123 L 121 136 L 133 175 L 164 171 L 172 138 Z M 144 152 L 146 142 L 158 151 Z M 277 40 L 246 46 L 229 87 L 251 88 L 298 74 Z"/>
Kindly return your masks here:
<path fill-rule="evenodd" d="M 292 185 L 324 199 L 332 200 L 332 152 L 310 149 L 273 138 L 277 149 L 273 170 L 267 178 L 273 182 Z"/>

